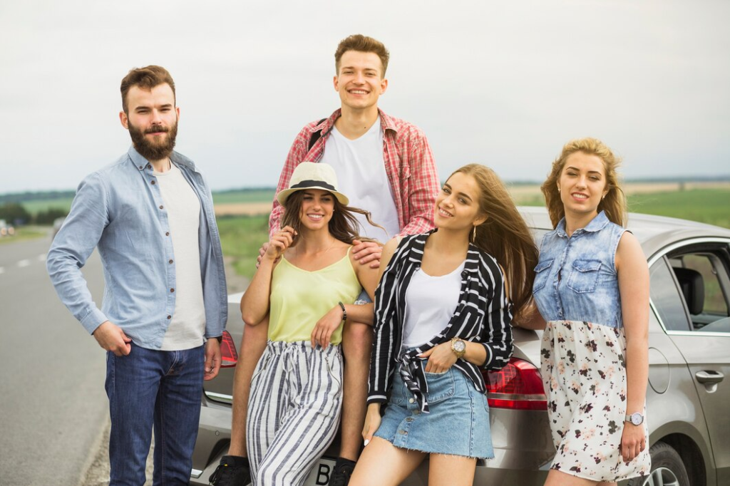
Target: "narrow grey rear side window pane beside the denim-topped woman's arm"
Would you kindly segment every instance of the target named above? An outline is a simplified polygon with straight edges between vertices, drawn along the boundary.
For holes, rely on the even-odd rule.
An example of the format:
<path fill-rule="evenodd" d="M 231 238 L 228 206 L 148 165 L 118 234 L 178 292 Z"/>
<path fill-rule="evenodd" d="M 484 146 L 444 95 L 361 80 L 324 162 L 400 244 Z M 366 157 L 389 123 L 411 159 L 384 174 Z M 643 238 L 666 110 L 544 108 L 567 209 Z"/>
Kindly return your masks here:
<path fill-rule="evenodd" d="M 672 269 L 664 258 L 650 269 L 650 296 L 653 308 L 667 331 L 690 331 L 685 305 Z"/>

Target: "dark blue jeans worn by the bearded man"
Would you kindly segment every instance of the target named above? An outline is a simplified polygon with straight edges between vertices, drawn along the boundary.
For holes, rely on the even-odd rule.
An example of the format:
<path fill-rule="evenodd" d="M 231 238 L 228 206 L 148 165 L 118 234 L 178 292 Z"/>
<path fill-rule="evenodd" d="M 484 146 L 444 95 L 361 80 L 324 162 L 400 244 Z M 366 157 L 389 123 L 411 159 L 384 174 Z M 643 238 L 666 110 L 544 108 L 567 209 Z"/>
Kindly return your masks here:
<path fill-rule="evenodd" d="M 126 356 L 107 352 L 110 486 L 145 483 L 155 431 L 155 485 L 187 485 L 193 467 L 203 391 L 204 346 L 147 350 L 132 344 Z"/>

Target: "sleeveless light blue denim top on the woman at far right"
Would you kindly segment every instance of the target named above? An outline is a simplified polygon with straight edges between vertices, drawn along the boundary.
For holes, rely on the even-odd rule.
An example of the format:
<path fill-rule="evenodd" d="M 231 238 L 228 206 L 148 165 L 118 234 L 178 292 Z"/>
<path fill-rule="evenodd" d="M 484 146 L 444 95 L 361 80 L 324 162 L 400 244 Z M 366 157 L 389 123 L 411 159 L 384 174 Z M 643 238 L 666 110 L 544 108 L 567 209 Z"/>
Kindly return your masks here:
<path fill-rule="evenodd" d="M 546 321 L 623 327 L 616 248 L 624 231 L 602 211 L 570 237 L 565 219 L 542 237 L 532 295 Z"/>

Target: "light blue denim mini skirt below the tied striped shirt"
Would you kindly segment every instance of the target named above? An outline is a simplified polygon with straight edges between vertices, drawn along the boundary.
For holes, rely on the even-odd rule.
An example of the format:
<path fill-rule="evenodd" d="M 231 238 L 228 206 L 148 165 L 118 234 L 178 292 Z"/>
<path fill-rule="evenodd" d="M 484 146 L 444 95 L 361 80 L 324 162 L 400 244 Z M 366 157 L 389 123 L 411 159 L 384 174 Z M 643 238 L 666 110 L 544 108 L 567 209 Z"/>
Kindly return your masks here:
<path fill-rule="evenodd" d="M 426 373 L 429 413 L 422 413 L 396 371 L 391 399 L 376 437 L 396 447 L 466 458 L 494 457 L 487 397 L 453 366 L 445 373 Z"/>

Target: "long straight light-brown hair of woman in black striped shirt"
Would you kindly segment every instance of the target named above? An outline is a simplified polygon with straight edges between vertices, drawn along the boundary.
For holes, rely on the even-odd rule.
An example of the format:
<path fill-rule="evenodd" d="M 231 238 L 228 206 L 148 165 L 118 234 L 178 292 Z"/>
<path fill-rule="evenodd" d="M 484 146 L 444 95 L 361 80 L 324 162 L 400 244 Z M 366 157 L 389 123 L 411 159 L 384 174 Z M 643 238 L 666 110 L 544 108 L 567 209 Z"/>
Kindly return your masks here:
<path fill-rule="evenodd" d="M 473 243 L 502 266 L 515 305 L 514 315 L 520 315 L 532 296 L 533 269 L 537 265 L 534 239 L 512 196 L 492 169 L 470 163 L 453 174 L 457 172 L 474 177 L 481 190 L 479 209 L 487 219 L 477 226 Z"/>

